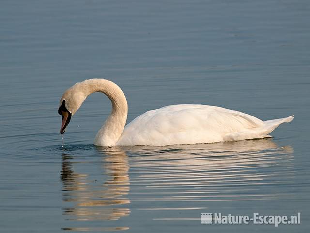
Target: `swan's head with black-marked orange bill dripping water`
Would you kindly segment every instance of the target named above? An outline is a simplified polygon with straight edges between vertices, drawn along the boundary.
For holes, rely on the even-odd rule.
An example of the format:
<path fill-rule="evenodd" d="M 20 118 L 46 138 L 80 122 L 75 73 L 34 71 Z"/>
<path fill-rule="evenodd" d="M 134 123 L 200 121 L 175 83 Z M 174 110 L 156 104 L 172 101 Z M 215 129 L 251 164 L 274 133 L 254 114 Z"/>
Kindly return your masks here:
<path fill-rule="evenodd" d="M 80 83 L 76 83 L 63 93 L 58 108 L 58 114 L 62 116 L 61 134 L 65 132 L 71 117 L 78 111 L 86 97 Z"/>

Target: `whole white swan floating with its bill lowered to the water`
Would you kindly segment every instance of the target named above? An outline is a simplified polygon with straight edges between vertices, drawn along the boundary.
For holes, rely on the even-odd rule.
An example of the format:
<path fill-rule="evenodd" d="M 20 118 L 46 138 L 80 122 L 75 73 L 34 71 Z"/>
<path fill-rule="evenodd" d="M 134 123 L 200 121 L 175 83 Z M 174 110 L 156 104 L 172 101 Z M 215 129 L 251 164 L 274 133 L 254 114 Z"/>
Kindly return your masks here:
<path fill-rule="evenodd" d="M 106 79 L 89 79 L 66 90 L 60 100 L 62 115 L 60 133 L 65 132 L 71 116 L 93 92 L 106 94 L 112 111 L 98 131 L 94 144 L 98 146 L 214 143 L 271 137 L 268 133 L 293 116 L 262 121 L 254 116 L 216 106 L 181 104 L 147 111 L 126 127 L 126 97 L 115 83 Z"/>

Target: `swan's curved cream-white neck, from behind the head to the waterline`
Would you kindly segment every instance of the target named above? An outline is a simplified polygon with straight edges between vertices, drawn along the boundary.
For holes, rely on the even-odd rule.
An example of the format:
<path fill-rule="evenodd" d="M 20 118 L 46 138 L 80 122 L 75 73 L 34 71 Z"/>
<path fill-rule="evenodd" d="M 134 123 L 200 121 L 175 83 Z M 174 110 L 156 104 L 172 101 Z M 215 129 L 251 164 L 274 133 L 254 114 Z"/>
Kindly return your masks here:
<path fill-rule="evenodd" d="M 106 79 L 89 79 L 80 84 L 86 97 L 94 92 L 102 92 L 111 100 L 112 111 L 98 131 L 94 144 L 98 146 L 116 145 L 123 133 L 128 113 L 127 100 L 123 91 L 118 85 Z"/>

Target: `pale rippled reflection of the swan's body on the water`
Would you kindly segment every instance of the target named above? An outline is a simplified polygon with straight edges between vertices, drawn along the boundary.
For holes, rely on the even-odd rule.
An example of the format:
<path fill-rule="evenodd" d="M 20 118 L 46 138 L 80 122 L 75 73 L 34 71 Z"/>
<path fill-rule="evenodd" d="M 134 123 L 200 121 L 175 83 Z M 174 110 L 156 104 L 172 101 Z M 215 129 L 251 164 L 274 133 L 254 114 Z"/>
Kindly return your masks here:
<path fill-rule="evenodd" d="M 288 184 L 294 177 L 293 149 L 271 139 L 124 149 L 133 153 L 131 201 L 160 201 L 163 208 L 165 201 L 277 199 L 279 190 L 261 187 Z"/>

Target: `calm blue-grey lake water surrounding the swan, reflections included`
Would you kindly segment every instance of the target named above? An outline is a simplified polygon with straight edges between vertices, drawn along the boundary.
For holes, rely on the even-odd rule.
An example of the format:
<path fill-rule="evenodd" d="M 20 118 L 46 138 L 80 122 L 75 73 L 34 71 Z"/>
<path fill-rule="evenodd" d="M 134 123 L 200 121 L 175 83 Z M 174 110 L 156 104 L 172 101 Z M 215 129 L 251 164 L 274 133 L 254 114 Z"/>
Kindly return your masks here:
<path fill-rule="evenodd" d="M 15 0 L 0 7 L 0 231 L 306 232 L 308 0 Z M 262 120 L 273 139 L 93 145 L 110 102 L 90 96 L 64 138 L 65 89 L 117 83 L 130 122 L 178 103 Z M 202 225 L 201 213 L 295 215 L 300 225 Z"/>

